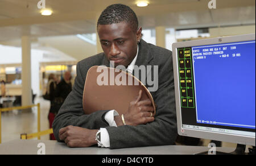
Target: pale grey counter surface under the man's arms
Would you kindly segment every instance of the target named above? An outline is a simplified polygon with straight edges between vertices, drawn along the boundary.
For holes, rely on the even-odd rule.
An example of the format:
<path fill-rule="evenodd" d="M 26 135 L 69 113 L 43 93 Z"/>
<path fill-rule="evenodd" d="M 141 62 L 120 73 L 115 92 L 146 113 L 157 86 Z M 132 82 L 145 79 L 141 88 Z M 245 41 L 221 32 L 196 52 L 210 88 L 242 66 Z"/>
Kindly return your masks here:
<path fill-rule="evenodd" d="M 36 155 L 42 148 L 39 143 L 45 146 L 46 155 L 191 155 L 210 149 L 198 146 L 152 146 L 110 150 L 98 147 L 69 148 L 65 143 L 54 140 L 13 140 L 0 144 L 0 155 Z M 234 148 L 219 147 L 217 151 L 232 152 Z"/>

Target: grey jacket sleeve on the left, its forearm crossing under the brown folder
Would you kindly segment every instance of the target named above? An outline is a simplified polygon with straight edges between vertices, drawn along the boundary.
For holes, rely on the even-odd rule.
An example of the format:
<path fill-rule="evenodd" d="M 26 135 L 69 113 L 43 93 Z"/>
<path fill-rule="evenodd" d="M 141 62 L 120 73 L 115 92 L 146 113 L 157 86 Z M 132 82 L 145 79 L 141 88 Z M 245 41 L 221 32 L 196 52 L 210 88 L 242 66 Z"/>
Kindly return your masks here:
<path fill-rule="evenodd" d="M 69 93 L 68 97 L 65 99 L 59 113 L 53 121 L 53 134 L 58 141 L 60 141 L 60 128 L 69 125 L 88 129 L 98 129 L 108 126 L 108 123 L 102 118 L 108 110 L 84 114 L 84 110 L 82 109 L 82 94 L 84 91 L 85 78 L 82 77 L 81 72 L 80 64 L 77 64 L 77 77 L 72 92 Z M 85 72 L 87 72 L 87 70 Z"/>

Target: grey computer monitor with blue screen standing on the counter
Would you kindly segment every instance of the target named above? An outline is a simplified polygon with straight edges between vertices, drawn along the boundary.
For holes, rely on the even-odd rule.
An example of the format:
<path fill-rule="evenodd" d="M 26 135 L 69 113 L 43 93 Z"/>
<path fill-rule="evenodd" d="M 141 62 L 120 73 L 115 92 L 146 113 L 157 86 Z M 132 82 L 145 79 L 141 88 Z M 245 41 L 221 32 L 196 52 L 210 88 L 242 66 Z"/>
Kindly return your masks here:
<path fill-rule="evenodd" d="M 178 134 L 255 146 L 255 34 L 172 51 Z"/>

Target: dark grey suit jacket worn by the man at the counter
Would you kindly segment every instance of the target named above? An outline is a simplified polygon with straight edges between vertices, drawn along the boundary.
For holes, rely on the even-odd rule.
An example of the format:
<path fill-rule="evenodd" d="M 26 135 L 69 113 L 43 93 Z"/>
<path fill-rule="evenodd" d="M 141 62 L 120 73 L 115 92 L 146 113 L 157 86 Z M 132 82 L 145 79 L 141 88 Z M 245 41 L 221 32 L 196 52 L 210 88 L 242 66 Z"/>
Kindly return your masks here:
<path fill-rule="evenodd" d="M 138 65 L 138 67 L 141 65 L 158 65 L 159 80 L 158 90 L 151 92 L 157 105 L 155 121 L 138 126 L 110 127 L 104 119 L 105 113 L 109 110 L 99 110 L 89 115 L 84 114 L 82 110 L 82 94 L 86 73 L 94 65 L 106 65 L 109 67 L 109 61 L 104 53 L 81 60 L 77 64 L 77 77 L 73 90 L 65 99 L 53 122 L 53 133 L 58 141 L 60 141 L 58 136 L 60 128 L 72 125 L 89 129 L 105 127 L 109 133 L 110 149 L 162 146 L 175 143 L 177 127 L 171 51 L 156 47 L 143 40 L 139 43 L 139 52 L 135 65 Z M 147 71 L 147 73 L 150 72 Z M 151 72 L 151 74 L 153 73 Z M 148 76 L 146 80 L 147 78 Z M 147 81 L 144 82 L 148 87 Z"/>

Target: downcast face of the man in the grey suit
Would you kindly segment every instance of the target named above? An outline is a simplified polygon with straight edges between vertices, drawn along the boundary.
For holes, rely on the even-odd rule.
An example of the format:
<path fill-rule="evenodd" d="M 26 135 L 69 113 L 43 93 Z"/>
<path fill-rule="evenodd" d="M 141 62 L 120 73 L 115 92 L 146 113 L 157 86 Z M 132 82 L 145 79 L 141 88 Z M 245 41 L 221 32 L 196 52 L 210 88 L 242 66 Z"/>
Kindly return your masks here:
<path fill-rule="evenodd" d="M 137 54 L 137 42 L 141 39 L 141 30 L 137 32 L 126 22 L 98 25 L 98 36 L 101 47 L 109 61 L 114 61 L 115 67 L 127 67 Z"/>

